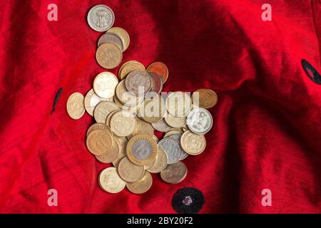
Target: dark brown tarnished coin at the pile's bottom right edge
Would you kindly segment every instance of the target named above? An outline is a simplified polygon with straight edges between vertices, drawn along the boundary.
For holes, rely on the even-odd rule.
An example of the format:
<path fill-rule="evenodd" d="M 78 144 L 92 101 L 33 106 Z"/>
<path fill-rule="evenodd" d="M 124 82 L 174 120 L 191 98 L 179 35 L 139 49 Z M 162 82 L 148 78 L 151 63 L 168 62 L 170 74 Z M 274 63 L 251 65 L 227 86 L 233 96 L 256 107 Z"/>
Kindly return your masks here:
<path fill-rule="evenodd" d="M 183 162 L 175 162 L 174 164 L 167 165 L 165 170 L 161 172 L 163 181 L 170 184 L 177 184 L 182 182 L 187 175 L 187 168 Z"/>

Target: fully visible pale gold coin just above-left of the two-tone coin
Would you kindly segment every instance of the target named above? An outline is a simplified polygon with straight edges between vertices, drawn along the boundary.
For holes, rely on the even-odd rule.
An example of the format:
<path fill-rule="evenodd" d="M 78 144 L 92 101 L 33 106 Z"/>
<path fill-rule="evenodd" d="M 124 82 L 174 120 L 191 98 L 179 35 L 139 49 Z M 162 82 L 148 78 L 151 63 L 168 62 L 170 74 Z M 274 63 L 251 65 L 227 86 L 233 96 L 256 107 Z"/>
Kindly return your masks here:
<path fill-rule="evenodd" d="M 111 117 L 111 130 L 118 136 L 131 135 L 136 128 L 136 118 L 132 113 L 120 110 Z"/>

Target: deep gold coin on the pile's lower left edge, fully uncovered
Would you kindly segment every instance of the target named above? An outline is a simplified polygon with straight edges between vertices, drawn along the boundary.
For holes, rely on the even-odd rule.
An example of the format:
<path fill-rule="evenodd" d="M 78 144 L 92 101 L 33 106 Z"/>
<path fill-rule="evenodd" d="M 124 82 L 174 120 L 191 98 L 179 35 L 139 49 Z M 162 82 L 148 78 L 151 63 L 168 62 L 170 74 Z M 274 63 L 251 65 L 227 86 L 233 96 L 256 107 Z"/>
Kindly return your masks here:
<path fill-rule="evenodd" d="M 113 146 L 113 140 L 108 130 L 93 130 L 87 136 L 86 145 L 93 155 L 104 155 Z"/>

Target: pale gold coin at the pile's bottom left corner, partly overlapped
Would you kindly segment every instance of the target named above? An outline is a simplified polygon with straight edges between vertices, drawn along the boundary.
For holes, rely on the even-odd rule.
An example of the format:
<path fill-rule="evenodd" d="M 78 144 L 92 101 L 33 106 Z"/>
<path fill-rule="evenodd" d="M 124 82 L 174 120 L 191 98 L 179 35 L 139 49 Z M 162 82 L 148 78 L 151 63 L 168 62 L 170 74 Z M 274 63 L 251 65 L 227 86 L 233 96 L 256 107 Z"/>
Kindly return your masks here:
<path fill-rule="evenodd" d="M 121 177 L 119 177 L 116 167 L 108 167 L 99 173 L 99 185 L 103 190 L 109 193 L 121 192 L 126 186 Z"/>

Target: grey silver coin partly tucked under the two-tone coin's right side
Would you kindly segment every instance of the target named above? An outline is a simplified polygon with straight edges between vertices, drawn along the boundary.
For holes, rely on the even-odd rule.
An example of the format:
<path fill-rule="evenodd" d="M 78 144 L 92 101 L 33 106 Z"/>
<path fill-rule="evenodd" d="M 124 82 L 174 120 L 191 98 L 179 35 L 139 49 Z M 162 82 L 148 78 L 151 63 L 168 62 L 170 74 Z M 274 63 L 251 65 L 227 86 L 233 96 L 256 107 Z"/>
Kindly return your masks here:
<path fill-rule="evenodd" d="M 180 142 L 173 138 L 163 138 L 158 142 L 158 147 L 162 148 L 166 153 L 168 160 L 167 164 L 173 164 L 180 159 L 182 150 L 180 149 Z"/>

